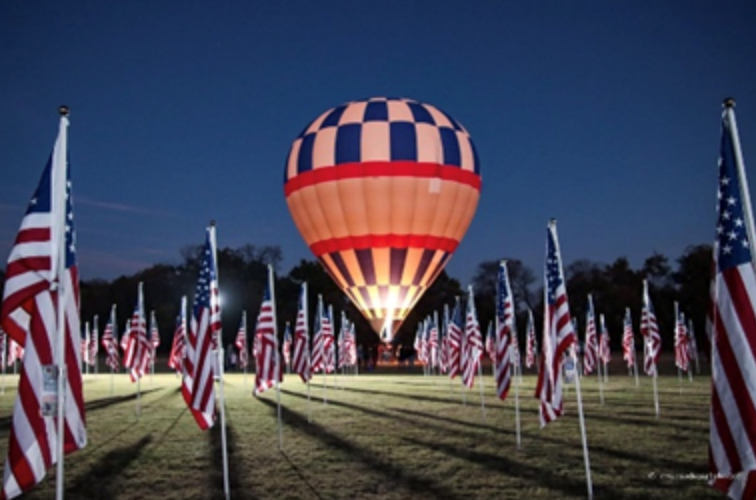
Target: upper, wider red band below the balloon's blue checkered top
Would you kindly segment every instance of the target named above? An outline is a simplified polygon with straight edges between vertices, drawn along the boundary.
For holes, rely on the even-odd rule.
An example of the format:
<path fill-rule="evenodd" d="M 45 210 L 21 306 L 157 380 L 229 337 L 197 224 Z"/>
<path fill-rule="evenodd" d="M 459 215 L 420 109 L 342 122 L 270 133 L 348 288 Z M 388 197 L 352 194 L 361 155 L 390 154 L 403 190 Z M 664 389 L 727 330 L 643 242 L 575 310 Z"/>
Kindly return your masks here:
<path fill-rule="evenodd" d="M 343 163 L 332 167 L 319 167 L 302 172 L 284 184 L 286 196 L 295 191 L 319 184 L 342 179 L 362 177 L 418 177 L 442 179 L 466 184 L 480 191 L 480 175 L 457 166 L 414 161 Z"/>

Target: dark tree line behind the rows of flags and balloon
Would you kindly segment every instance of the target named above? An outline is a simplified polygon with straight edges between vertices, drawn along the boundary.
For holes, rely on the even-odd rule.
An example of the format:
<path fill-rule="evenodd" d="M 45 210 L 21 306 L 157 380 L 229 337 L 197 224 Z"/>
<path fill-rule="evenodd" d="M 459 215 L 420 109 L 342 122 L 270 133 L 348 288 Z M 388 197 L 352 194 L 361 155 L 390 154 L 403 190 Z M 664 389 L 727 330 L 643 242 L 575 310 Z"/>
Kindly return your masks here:
<path fill-rule="evenodd" d="M 202 246 L 188 246 L 180 251 L 178 264 L 155 264 L 131 276 L 121 276 L 112 281 L 93 279 L 81 282 L 81 318 L 92 321 L 99 316 L 99 331 L 108 321 L 112 304 L 116 305 L 118 331 L 123 333 L 126 320 L 131 316 L 137 299 L 137 285 L 144 282 L 145 312 L 155 311 L 160 331 L 158 351 L 167 354 L 173 339 L 175 319 L 179 312 L 181 297 L 188 297 L 191 309 L 194 289 L 199 275 Z M 277 246 L 256 247 L 244 245 L 239 248 L 218 250 L 218 280 L 221 294 L 221 316 L 224 345 L 233 343 L 239 328 L 242 311 L 247 311 L 248 331 L 254 330 L 254 321 L 267 282 L 267 266 L 276 271 L 276 317 L 279 335 L 283 335 L 286 322 L 293 329 L 297 314 L 300 285 L 308 284 L 309 317 L 312 327 L 318 295 L 326 304 L 333 305 L 334 314 L 346 313 L 355 322 L 357 342 L 363 347 L 375 346 L 378 336 L 362 314 L 331 280 L 317 260 L 300 260 L 286 274 L 281 274 L 282 251 Z M 564 268 L 570 312 L 577 319 L 579 331 L 585 329 L 587 295 L 593 294 L 596 314 L 604 314 L 611 335 L 612 350 L 621 349 L 622 325 L 625 308 L 633 316 L 637 348 L 640 348 L 639 323 L 642 307 L 642 283 L 648 280 L 649 294 L 654 304 L 664 350 L 674 345 L 673 303 L 678 301 L 681 311 L 693 321 L 699 348 L 706 351 L 706 310 L 708 307 L 709 280 L 711 273 L 711 246 L 688 247 L 673 263 L 659 253 L 648 257 L 640 269 L 632 269 L 627 258 L 620 257 L 611 264 L 602 264 L 587 259 L 576 260 Z M 481 329 L 485 333 L 496 314 L 496 278 L 498 261 L 481 262 L 473 277 L 475 304 Z M 543 285 L 536 283 L 536 275 L 521 260 L 508 259 L 509 277 L 515 298 L 516 320 L 520 343 L 524 345 L 524 330 L 527 309 L 533 311 L 536 330 L 539 333 L 543 314 Z M 5 282 L 5 273 L 0 271 L 0 284 Z M 442 271 L 436 281 L 420 298 L 395 336 L 395 344 L 412 344 L 417 325 L 427 316 L 438 311 L 444 304 L 453 308 L 457 298 L 464 308 L 466 291 L 459 280 Z M 463 311 L 464 312 L 464 311 Z M 189 311 L 191 314 L 191 310 Z M 338 325 L 338 319 L 337 325 Z"/>

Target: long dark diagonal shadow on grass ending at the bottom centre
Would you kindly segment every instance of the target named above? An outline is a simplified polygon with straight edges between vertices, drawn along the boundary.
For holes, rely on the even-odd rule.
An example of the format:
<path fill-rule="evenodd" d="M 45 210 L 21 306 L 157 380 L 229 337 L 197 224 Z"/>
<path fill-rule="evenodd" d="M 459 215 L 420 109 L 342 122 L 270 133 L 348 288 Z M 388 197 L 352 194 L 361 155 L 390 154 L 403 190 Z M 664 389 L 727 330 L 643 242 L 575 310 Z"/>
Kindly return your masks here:
<path fill-rule="evenodd" d="M 281 391 L 284 392 L 284 391 Z M 288 392 L 288 391 L 287 391 Z M 291 393 L 296 394 L 296 393 Z M 272 411 L 277 410 L 275 401 L 258 399 Z M 329 432 L 325 427 L 307 422 L 307 416 L 294 410 L 281 406 L 283 420 L 294 429 L 320 440 L 324 445 L 337 449 L 354 460 L 359 460 L 370 467 L 373 471 L 384 474 L 392 483 L 400 485 L 417 494 L 432 494 L 434 498 L 445 500 L 457 500 L 460 497 L 437 485 L 434 481 L 413 474 L 411 471 L 397 467 L 396 465 L 377 458 L 370 450 L 355 446 L 350 441 Z M 309 486 L 309 484 L 308 484 Z M 461 500 L 461 499 L 460 499 Z"/>

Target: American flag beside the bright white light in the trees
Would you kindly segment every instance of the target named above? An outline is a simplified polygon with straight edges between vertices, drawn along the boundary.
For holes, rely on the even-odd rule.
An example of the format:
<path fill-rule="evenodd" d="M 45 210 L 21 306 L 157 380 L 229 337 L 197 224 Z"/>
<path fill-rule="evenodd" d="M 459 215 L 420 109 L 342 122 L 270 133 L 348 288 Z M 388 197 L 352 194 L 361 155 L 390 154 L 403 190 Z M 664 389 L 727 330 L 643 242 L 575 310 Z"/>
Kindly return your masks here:
<path fill-rule="evenodd" d="M 200 429 L 215 424 L 216 337 L 221 328 L 215 225 L 205 230 L 192 317 L 186 337 L 186 357 L 181 393 Z"/>

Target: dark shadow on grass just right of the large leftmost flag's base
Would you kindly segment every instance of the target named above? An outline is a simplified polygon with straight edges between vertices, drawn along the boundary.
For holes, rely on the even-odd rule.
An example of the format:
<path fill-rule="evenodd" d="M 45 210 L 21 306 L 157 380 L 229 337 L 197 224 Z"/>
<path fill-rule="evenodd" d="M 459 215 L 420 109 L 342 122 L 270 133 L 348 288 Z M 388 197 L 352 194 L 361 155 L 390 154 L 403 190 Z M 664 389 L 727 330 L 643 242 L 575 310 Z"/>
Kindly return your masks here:
<path fill-rule="evenodd" d="M 123 470 L 150 444 L 151 436 L 145 436 L 131 446 L 116 448 L 94 464 L 87 473 L 77 476 L 68 488 L 66 497 L 88 500 L 109 500 L 123 495 L 119 479 Z"/>

